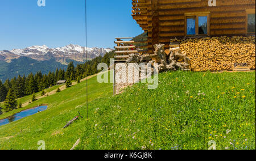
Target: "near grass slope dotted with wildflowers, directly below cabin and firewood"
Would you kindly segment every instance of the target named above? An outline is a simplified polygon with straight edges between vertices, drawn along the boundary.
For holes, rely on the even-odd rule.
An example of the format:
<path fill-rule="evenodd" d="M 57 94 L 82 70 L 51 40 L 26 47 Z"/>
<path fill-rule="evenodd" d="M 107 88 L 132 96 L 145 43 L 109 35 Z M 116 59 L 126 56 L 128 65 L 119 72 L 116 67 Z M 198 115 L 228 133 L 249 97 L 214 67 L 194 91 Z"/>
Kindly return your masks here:
<path fill-rule="evenodd" d="M 93 101 L 99 109 L 78 149 L 208 149 L 211 140 L 217 149 L 255 149 L 255 72 L 178 71 L 159 81 L 156 90 L 135 84 Z"/>

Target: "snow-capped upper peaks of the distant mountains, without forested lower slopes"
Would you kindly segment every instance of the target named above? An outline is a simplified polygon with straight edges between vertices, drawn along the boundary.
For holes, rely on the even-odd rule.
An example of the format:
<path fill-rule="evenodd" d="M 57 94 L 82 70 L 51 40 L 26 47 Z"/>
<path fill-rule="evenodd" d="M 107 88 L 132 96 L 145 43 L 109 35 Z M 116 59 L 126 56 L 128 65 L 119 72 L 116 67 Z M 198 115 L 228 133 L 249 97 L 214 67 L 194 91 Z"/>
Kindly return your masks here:
<path fill-rule="evenodd" d="M 88 60 L 98 56 L 104 56 L 107 52 L 112 51 L 110 48 L 86 48 L 79 45 L 67 45 L 61 48 L 48 48 L 43 46 L 31 46 L 25 49 L 13 49 L 0 51 L 0 60 L 10 61 L 19 57 L 30 57 L 34 60 L 45 61 L 55 59 L 57 62 L 64 63 L 65 60 L 85 61 L 85 52 L 87 51 Z"/>

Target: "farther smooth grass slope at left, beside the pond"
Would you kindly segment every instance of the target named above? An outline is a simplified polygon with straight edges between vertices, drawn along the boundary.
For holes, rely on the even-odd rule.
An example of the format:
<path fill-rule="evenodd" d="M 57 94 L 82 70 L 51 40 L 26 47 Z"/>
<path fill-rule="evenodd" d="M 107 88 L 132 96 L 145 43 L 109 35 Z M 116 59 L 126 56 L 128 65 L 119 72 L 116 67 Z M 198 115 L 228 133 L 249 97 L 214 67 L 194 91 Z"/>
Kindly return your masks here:
<path fill-rule="evenodd" d="M 99 84 L 96 78 L 88 79 L 89 101 L 102 94 L 112 94 L 112 84 Z M 85 91 L 86 81 L 25 107 L 48 104 L 46 111 L 0 126 L 0 149 L 37 149 L 40 140 L 46 142 L 47 149 L 70 149 L 77 137 L 84 132 L 84 126 L 74 124 L 64 130 L 62 127 L 77 116 L 77 111 L 81 111 L 82 105 L 86 103 Z M 81 113 L 86 116 L 85 108 Z M 85 118 L 79 122 L 86 124 Z"/>

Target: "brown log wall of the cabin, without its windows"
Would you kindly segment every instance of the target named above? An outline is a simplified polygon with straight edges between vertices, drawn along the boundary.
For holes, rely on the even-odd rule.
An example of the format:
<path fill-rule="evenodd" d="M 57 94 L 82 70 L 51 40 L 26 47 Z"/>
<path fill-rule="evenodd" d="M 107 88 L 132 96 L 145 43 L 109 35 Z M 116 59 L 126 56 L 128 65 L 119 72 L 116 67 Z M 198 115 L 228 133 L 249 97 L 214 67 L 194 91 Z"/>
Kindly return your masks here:
<path fill-rule="evenodd" d="M 255 0 L 216 0 L 216 2 L 217 6 L 210 7 L 208 0 L 144 0 L 143 4 L 147 4 L 148 50 L 153 50 L 152 45 L 156 41 L 165 44 L 165 48 L 168 48 L 170 39 L 184 37 L 185 14 L 191 12 L 209 12 L 209 36 L 246 35 L 246 10 L 255 10 Z M 156 18 L 156 15 L 159 18 Z M 141 22 L 145 26 L 144 15 Z M 158 22 L 159 24 L 156 24 Z M 137 23 L 140 24 L 140 21 Z M 155 39 L 154 26 L 159 26 L 158 39 Z"/>

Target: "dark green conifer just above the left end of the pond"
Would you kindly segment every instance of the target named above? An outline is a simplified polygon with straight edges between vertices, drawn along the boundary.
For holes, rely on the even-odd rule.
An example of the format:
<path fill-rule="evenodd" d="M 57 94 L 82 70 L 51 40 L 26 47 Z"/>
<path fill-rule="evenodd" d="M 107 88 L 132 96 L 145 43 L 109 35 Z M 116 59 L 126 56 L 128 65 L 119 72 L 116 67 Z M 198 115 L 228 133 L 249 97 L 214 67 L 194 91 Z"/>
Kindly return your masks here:
<path fill-rule="evenodd" d="M 8 111 L 12 111 L 13 109 L 15 109 L 17 107 L 16 99 L 17 99 L 17 97 L 14 93 L 13 88 L 10 88 L 9 92 L 6 95 L 3 111 L 8 112 Z"/>

